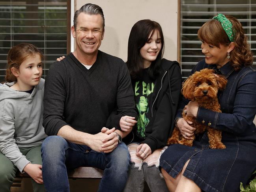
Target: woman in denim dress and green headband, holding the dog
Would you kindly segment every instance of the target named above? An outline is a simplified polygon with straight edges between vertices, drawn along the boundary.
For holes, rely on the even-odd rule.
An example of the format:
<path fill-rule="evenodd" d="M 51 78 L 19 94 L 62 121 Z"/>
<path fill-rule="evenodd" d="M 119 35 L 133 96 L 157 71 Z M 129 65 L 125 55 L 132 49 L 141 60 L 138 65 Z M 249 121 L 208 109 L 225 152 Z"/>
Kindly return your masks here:
<path fill-rule="evenodd" d="M 239 192 L 240 182 L 247 183 L 256 169 L 256 70 L 252 53 L 241 23 L 232 16 L 218 14 L 199 30 L 205 59 L 191 71 L 215 69 L 228 83 L 219 91 L 222 113 L 198 107 L 196 101 L 184 97 L 179 104 L 176 125 L 190 139 L 195 128 L 181 115 L 188 116 L 222 130 L 226 149 L 209 149 L 207 132 L 196 137 L 193 146 L 172 144 L 160 159 L 161 171 L 170 191 L 175 192 Z"/>

